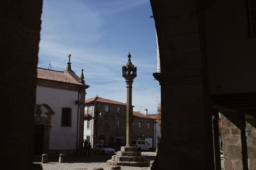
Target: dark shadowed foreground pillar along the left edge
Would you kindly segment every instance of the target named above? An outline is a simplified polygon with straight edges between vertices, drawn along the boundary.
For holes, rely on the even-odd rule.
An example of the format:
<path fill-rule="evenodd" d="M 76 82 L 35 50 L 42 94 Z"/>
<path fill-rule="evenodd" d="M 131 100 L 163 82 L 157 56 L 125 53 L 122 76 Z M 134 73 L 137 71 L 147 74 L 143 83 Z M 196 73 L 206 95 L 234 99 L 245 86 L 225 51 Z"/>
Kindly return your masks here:
<path fill-rule="evenodd" d="M 0 3 L 1 169 L 31 169 L 42 0 Z"/>

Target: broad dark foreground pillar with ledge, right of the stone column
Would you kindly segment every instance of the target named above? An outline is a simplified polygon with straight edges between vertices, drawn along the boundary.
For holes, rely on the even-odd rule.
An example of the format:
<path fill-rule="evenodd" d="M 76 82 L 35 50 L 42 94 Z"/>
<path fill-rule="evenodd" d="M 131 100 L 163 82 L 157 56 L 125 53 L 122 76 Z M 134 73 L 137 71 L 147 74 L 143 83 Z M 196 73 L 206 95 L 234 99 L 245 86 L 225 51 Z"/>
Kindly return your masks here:
<path fill-rule="evenodd" d="M 150 1 L 161 65 L 157 169 L 214 169 L 202 2 Z"/>

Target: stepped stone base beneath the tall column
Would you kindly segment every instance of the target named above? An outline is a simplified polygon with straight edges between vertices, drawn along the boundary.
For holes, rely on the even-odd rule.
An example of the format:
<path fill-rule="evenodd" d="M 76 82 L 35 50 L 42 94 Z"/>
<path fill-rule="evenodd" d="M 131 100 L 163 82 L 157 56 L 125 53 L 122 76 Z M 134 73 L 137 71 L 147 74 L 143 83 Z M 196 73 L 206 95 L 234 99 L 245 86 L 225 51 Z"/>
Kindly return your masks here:
<path fill-rule="evenodd" d="M 112 156 L 112 159 L 107 161 L 107 164 L 111 166 L 138 166 L 145 167 L 150 166 L 150 161 L 145 160 L 141 156 L 141 152 L 137 151 L 134 146 L 122 146 L 121 151 L 116 152 L 116 155 Z"/>

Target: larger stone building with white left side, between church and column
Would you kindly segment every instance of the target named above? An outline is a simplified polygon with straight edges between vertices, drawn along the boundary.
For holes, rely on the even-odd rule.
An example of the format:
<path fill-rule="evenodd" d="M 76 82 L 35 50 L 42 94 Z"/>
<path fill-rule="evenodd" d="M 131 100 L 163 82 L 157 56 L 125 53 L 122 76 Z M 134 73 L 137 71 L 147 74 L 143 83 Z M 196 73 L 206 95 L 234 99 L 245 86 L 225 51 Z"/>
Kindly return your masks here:
<path fill-rule="evenodd" d="M 96 143 L 125 143 L 126 104 L 101 97 L 85 101 L 84 139 Z"/>

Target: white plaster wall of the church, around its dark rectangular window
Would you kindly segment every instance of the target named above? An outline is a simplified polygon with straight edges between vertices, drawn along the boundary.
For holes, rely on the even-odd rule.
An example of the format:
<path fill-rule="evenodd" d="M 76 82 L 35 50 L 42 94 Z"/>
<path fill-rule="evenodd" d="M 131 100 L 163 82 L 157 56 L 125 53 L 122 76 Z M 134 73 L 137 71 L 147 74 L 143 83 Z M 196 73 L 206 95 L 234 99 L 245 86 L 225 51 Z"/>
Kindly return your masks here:
<path fill-rule="evenodd" d="M 54 115 L 51 118 L 50 150 L 74 150 L 77 142 L 77 100 L 78 92 L 49 87 L 36 87 L 36 104 L 48 104 Z M 71 127 L 61 127 L 61 108 L 72 109 Z"/>

